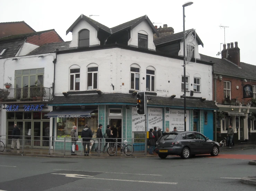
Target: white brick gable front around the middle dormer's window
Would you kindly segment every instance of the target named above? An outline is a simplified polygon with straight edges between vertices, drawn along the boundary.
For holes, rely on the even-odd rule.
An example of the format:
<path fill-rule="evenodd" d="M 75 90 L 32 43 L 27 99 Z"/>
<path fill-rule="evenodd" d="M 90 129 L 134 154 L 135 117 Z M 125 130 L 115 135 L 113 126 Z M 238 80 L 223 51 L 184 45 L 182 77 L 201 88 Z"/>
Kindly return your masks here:
<path fill-rule="evenodd" d="M 148 49 L 156 50 L 155 44 L 153 42 L 152 29 L 145 20 L 131 30 L 131 38 L 128 41 L 128 45 L 138 47 L 138 32 L 141 30 L 148 34 Z"/>

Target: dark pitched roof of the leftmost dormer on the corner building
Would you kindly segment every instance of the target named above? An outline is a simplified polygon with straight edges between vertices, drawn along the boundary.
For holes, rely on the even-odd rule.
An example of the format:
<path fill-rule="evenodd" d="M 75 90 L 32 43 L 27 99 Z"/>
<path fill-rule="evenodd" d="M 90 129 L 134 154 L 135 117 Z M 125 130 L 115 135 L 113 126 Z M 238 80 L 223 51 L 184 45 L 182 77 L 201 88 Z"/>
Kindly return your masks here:
<path fill-rule="evenodd" d="M 97 31 L 99 29 L 101 30 L 104 30 L 106 32 L 108 32 L 109 34 L 111 34 L 111 30 L 110 28 L 106 27 L 105 25 L 89 18 L 89 17 L 86 17 L 85 15 L 81 14 L 81 16 L 79 16 L 77 18 L 77 20 L 69 27 L 69 29 L 66 31 L 66 34 L 68 34 L 69 32 L 72 32 L 73 28 L 77 25 L 77 23 L 80 21 L 80 20 L 85 20 L 86 22 L 88 22 L 92 27 L 94 27 Z"/>

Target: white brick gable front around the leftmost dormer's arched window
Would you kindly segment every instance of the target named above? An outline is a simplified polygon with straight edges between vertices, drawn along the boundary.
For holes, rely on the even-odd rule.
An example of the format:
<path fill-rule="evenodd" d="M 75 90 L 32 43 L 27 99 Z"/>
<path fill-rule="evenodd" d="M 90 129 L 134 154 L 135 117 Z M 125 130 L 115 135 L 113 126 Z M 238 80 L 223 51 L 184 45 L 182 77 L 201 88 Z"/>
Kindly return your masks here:
<path fill-rule="evenodd" d="M 70 42 L 69 47 L 78 47 L 78 32 L 82 29 L 88 29 L 90 31 L 90 46 L 100 45 L 100 41 L 97 38 L 98 31 L 85 20 L 80 20 L 73 28 L 72 41 Z"/>

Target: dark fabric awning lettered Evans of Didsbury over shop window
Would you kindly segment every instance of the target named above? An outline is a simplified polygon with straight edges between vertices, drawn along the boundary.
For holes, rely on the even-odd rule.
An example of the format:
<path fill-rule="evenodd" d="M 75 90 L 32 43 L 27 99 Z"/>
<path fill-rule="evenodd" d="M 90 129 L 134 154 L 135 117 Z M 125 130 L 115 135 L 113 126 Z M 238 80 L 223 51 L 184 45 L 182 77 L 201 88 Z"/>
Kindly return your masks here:
<path fill-rule="evenodd" d="M 67 117 L 91 117 L 91 112 L 95 109 L 69 109 L 69 110 L 54 110 L 46 115 L 52 118 L 67 118 Z"/>

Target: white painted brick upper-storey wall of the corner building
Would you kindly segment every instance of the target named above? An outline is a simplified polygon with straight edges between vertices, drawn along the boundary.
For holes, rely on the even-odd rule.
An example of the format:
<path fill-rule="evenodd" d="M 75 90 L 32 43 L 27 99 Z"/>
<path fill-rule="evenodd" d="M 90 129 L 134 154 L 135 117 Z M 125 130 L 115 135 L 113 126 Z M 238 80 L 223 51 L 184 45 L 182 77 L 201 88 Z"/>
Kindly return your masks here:
<path fill-rule="evenodd" d="M 69 68 L 73 64 L 80 66 L 80 91 L 87 90 L 87 66 L 90 63 L 96 63 L 99 66 L 98 89 L 103 92 L 128 93 L 130 90 L 130 66 L 136 63 L 141 67 L 141 91 L 146 90 L 146 80 L 142 79 L 143 77 L 146 79 L 146 68 L 153 66 L 156 68 L 156 89 L 169 90 L 169 93 L 157 92 L 158 96 L 169 97 L 176 94 L 176 97 L 180 98 L 184 94 L 181 91 L 183 60 L 120 48 L 59 54 L 56 64 L 55 92 L 62 95 L 63 91 L 69 91 Z M 202 92 L 194 92 L 194 97 L 212 100 L 212 66 L 191 63 L 186 66 L 186 72 L 186 75 L 189 75 L 189 91 L 193 90 L 194 76 L 198 74 L 201 76 Z M 114 90 L 111 83 L 115 87 Z M 187 94 L 189 96 L 189 92 Z"/>

